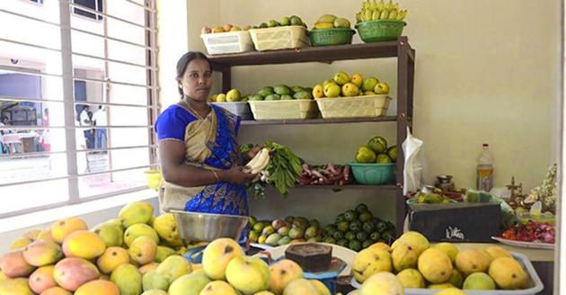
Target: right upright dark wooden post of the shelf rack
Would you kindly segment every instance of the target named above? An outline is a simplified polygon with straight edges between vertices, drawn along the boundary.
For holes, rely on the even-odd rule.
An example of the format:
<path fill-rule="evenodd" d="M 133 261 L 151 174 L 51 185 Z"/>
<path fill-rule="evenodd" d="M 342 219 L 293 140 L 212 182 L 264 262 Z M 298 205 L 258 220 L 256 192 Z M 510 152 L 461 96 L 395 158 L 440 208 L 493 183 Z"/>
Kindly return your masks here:
<path fill-rule="evenodd" d="M 409 44 L 406 37 L 397 43 L 397 189 L 395 191 L 395 228 L 397 237 L 402 235 L 405 220 L 405 198 L 402 194 L 403 168 L 405 157 L 402 142 L 407 138 L 407 115 L 409 112 Z"/>

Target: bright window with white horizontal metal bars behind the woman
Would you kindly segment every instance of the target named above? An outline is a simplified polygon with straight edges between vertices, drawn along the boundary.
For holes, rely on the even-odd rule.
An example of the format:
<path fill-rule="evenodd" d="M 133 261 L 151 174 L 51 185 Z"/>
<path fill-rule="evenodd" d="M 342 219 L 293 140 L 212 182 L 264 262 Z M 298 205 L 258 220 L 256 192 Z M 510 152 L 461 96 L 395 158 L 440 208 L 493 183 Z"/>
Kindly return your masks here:
<path fill-rule="evenodd" d="M 155 167 L 155 1 L 87 2 L 0 1 L 0 218 L 143 190 Z"/>

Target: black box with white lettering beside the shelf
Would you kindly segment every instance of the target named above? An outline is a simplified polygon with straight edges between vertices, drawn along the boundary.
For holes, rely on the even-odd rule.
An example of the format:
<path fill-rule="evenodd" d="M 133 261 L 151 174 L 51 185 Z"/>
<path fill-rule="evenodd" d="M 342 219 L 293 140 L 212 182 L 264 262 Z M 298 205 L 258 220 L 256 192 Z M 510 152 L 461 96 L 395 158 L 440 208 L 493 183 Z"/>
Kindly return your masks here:
<path fill-rule="evenodd" d="M 493 242 L 501 233 L 501 207 L 492 203 L 411 204 L 409 230 L 434 242 Z"/>

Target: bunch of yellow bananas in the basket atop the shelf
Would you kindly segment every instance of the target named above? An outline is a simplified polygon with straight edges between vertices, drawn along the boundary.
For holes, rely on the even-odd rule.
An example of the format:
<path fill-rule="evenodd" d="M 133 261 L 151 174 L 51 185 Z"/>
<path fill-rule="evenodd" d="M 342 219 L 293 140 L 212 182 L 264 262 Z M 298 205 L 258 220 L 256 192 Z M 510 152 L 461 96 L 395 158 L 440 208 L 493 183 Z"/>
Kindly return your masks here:
<path fill-rule="evenodd" d="M 385 4 L 384 0 L 379 3 L 376 0 L 362 1 L 362 9 L 356 13 L 357 22 L 368 22 L 377 20 L 402 21 L 407 16 L 407 10 L 400 10 L 398 3 L 389 0 Z"/>

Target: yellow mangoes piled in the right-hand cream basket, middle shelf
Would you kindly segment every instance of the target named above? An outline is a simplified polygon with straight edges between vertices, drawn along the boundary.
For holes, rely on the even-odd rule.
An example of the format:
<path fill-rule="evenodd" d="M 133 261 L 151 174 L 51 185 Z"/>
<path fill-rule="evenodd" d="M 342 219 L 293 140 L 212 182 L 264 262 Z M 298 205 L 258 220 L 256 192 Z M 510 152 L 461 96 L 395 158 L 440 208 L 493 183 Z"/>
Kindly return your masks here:
<path fill-rule="evenodd" d="M 351 97 L 358 95 L 389 94 L 389 85 L 379 82 L 375 76 L 366 79 L 356 73 L 351 77 L 346 72 L 334 74 L 332 79 L 325 80 L 323 84 L 314 86 L 313 97 Z"/>

